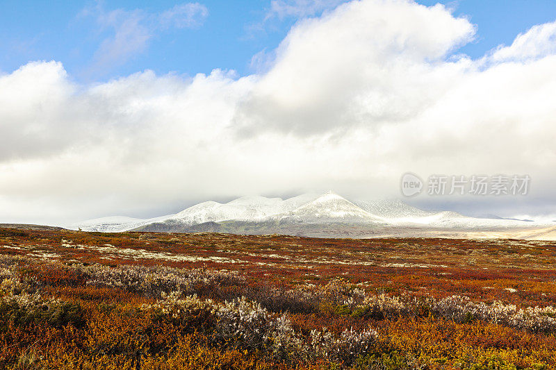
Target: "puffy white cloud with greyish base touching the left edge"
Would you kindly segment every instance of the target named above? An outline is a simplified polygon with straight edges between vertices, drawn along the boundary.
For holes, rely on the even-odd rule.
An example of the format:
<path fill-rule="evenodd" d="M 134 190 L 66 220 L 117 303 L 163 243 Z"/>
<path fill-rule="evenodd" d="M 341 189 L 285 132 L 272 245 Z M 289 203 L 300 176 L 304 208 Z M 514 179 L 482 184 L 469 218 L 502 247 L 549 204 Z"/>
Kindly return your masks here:
<path fill-rule="evenodd" d="M 0 75 L 1 160 L 49 155 L 67 146 L 76 126 L 63 108 L 73 92 L 59 62 L 31 62 Z"/>

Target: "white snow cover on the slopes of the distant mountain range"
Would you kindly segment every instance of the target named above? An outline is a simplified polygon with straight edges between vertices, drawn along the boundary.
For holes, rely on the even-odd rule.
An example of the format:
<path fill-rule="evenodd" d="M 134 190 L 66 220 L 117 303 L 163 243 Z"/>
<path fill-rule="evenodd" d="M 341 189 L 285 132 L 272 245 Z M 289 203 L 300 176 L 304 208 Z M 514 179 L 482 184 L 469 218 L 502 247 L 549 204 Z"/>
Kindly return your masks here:
<path fill-rule="evenodd" d="M 104 217 L 74 224 L 70 228 L 85 231 L 117 232 L 134 230 L 149 224 L 194 226 L 206 222 L 246 221 L 250 223 L 292 224 L 357 224 L 382 226 L 413 226 L 431 229 L 502 229 L 546 226 L 539 222 L 512 219 L 480 219 L 459 215 L 456 212 L 428 212 L 401 201 L 348 201 L 327 192 L 302 194 L 289 199 L 243 196 L 228 203 L 206 201 L 193 205 L 175 215 L 154 219 L 132 217 Z M 550 226 L 553 226 L 550 225 Z"/>

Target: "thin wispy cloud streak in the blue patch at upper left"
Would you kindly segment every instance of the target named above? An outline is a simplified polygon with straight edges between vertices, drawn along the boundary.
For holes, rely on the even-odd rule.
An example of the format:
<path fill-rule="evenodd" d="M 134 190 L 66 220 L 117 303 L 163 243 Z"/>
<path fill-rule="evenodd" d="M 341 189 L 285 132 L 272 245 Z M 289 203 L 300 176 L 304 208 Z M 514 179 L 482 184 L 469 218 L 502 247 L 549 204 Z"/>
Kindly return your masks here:
<path fill-rule="evenodd" d="M 116 9 L 107 11 L 97 3 L 85 8 L 82 16 L 92 16 L 101 31 L 109 31 L 95 52 L 92 69 L 95 72 L 115 65 L 123 65 L 149 47 L 154 35 L 170 28 L 197 28 L 208 16 L 208 9 L 200 3 L 182 3 L 160 13 L 145 10 Z"/>

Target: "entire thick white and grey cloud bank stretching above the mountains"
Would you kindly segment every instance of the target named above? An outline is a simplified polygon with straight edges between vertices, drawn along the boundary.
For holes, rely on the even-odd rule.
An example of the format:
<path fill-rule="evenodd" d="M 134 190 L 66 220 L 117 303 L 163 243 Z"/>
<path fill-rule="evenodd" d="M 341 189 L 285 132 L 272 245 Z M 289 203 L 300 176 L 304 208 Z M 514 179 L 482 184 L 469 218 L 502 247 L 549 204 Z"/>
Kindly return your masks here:
<path fill-rule="evenodd" d="M 553 27 L 471 60 L 457 50 L 475 26 L 443 6 L 352 1 L 297 22 L 263 72 L 240 78 L 76 85 L 59 62 L 28 63 L 0 76 L 0 221 L 156 216 L 244 194 L 397 196 L 407 171 L 529 174 L 530 196 L 473 201 L 548 214 Z"/>

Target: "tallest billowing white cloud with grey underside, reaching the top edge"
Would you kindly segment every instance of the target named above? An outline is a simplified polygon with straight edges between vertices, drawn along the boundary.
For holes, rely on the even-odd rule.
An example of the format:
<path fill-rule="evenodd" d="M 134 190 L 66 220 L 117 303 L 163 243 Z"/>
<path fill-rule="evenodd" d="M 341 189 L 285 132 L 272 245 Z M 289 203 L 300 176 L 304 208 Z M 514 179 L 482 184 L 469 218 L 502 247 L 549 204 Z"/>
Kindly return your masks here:
<path fill-rule="evenodd" d="M 344 4 L 291 29 L 236 124 L 306 134 L 411 117 L 465 67 L 439 63 L 474 33 L 441 5 Z M 427 89 L 435 81 L 441 90 Z"/>

